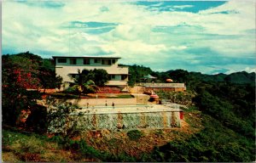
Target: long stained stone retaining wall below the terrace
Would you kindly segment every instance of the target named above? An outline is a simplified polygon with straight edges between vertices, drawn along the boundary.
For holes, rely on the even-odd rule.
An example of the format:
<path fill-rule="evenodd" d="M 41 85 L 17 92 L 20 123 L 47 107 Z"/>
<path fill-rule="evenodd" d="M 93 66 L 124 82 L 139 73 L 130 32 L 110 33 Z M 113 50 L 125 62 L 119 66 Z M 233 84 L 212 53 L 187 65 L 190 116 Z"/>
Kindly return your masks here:
<path fill-rule="evenodd" d="M 75 130 L 79 131 L 101 129 L 115 131 L 118 129 L 131 130 L 140 128 L 170 128 L 180 127 L 179 114 L 179 111 L 112 114 L 79 113 L 61 118 L 61 124 L 63 124 L 63 120 L 68 119 L 67 123 L 64 125 L 65 128 L 69 128 L 67 126 L 70 125 L 70 127 L 74 127 Z M 60 119 L 58 121 L 60 121 Z M 53 121 L 51 124 L 51 132 L 60 132 L 60 129 L 58 129 L 59 127 L 64 129 L 63 126 L 60 126 L 57 121 Z"/>

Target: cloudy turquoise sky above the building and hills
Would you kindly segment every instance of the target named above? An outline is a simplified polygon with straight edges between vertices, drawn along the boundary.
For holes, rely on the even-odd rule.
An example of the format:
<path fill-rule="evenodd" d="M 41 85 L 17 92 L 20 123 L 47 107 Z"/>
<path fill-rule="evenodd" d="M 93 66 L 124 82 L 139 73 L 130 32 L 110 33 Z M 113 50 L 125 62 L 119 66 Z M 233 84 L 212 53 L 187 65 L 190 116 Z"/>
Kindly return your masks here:
<path fill-rule="evenodd" d="M 205 74 L 255 72 L 255 2 L 11 1 L 2 53 L 114 56 L 119 64 Z"/>

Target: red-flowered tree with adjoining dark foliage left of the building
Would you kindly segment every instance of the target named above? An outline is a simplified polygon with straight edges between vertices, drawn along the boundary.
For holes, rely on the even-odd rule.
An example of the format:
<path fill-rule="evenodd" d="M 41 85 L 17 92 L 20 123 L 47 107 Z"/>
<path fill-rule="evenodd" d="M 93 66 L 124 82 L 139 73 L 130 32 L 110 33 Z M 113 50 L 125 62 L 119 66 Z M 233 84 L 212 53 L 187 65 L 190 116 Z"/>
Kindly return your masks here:
<path fill-rule="evenodd" d="M 3 125 L 15 126 L 21 110 L 37 108 L 36 99 L 41 98 L 38 91 L 27 89 L 55 88 L 61 77 L 44 67 L 43 59 L 32 53 L 3 55 Z"/>

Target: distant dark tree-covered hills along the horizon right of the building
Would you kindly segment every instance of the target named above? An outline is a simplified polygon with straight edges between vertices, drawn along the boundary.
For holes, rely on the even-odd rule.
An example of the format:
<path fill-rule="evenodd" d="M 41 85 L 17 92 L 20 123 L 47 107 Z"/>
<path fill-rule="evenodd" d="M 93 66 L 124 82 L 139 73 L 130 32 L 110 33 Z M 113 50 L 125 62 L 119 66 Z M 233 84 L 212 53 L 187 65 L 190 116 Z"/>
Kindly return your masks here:
<path fill-rule="evenodd" d="M 127 65 L 126 65 L 127 66 Z M 129 83 L 133 85 L 135 82 L 143 82 L 143 76 L 150 74 L 157 77 L 155 82 L 166 82 L 171 78 L 173 82 L 185 82 L 187 86 L 193 87 L 196 82 L 229 82 L 235 84 L 251 84 L 255 85 L 255 72 L 247 73 L 246 71 L 234 72 L 229 75 L 220 73 L 216 75 L 201 74 L 201 72 L 189 72 L 187 70 L 167 70 L 166 72 L 153 71 L 143 65 L 128 65 Z"/>

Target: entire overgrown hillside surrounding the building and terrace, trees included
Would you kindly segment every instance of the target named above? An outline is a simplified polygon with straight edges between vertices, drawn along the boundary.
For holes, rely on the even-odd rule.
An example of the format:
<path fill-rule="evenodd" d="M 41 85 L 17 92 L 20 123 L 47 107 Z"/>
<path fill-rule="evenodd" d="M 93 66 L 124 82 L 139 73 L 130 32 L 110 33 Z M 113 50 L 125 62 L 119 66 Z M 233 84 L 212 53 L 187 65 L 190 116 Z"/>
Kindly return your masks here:
<path fill-rule="evenodd" d="M 43 68 L 43 69 L 42 69 Z M 3 159 L 6 161 L 247 161 L 255 160 L 255 73 L 204 75 L 187 70 L 154 72 L 130 66 L 131 81 L 142 82 L 150 74 L 155 82 L 184 82 L 185 93 L 166 93 L 185 104 L 182 128 L 119 132 L 69 131 L 47 134 L 46 109 L 35 103 L 40 93 L 33 88 L 56 87 L 43 59 L 30 53 L 3 56 Z M 42 78 L 43 75 L 44 78 Z M 161 94 L 160 94 L 161 97 Z M 176 98 L 173 98 L 176 97 Z M 22 110 L 35 117 L 19 126 Z M 38 118 L 39 117 L 39 118 Z M 11 127 L 9 127 L 11 126 Z M 17 129 L 17 128 L 21 129 Z M 43 135 L 43 136 L 42 136 Z M 49 138 L 48 138 L 49 137 Z M 128 144 L 128 145 L 127 145 Z M 28 155 L 26 155 L 28 153 Z M 54 153 L 54 155 L 52 155 Z M 61 155 L 63 155 L 61 157 Z M 61 160 L 62 159 L 62 160 Z"/>

